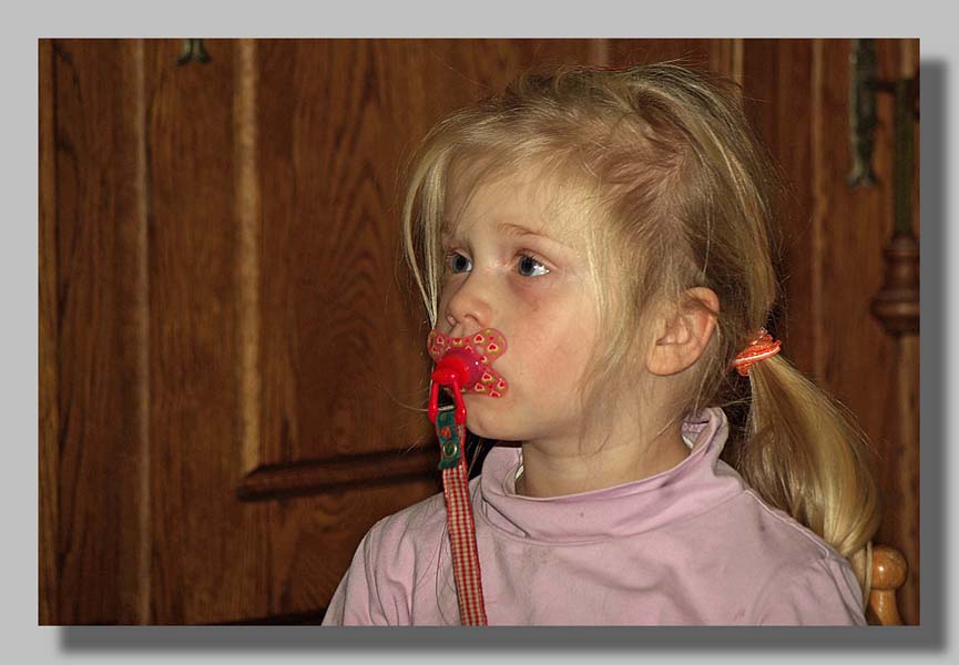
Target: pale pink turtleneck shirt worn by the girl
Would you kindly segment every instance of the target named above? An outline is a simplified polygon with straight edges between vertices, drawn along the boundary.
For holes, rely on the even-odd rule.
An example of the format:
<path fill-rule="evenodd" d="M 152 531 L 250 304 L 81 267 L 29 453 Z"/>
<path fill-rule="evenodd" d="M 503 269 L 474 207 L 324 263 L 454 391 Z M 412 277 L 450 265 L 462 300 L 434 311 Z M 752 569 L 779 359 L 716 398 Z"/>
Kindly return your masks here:
<path fill-rule="evenodd" d="M 516 493 L 519 448 L 470 482 L 490 625 L 865 625 L 847 561 L 720 460 L 721 409 L 683 424 L 690 456 L 603 490 Z M 458 625 L 442 494 L 377 522 L 324 625 Z"/>

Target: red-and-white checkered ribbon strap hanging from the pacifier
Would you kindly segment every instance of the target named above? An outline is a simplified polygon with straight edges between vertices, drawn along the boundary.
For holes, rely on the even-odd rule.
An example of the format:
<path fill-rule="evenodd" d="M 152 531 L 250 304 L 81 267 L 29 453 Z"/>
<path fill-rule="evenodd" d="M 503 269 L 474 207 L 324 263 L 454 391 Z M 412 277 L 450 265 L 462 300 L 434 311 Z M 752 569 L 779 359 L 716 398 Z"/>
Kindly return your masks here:
<path fill-rule="evenodd" d="M 487 616 L 476 545 L 476 523 L 469 498 L 469 473 L 462 454 L 466 426 L 458 424 L 453 409 L 447 408 L 437 415 L 436 431 L 442 452 L 439 467 L 442 470 L 442 494 L 446 499 L 460 623 L 465 626 L 484 626 Z"/>

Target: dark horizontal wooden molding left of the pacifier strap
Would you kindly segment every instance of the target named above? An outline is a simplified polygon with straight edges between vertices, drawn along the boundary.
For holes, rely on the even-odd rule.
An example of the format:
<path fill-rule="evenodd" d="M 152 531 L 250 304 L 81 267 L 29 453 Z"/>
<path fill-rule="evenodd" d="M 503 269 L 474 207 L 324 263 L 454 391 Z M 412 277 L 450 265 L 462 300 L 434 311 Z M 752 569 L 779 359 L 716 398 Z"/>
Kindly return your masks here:
<path fill-rule="evenodd" d="M 439 478 L 438 463 L 439 451 L 431 444 L 419 444 L 408 450 L 265 464 L 246 474 L 236 495 L 243 501 L 267 501 Z"/>

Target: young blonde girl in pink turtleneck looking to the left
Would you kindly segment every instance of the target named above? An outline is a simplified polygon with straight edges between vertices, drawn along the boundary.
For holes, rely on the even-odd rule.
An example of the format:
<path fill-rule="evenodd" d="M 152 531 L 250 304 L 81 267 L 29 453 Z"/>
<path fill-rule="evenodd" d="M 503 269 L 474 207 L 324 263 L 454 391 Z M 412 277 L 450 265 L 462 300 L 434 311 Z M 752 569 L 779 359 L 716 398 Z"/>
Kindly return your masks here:
<path fill-rule="evenodd" d="M 774 173 L 733 85 L 673 64 L 526 75 L 425 139 L 430 344 L 504 347 L 502 395 L 462 395 L 496 442 L 468 490 L 483 623 L 865 623 L 865 442 L 763 329 Z M 324 623 L 459 624 L 448 523 L 437 494 L 374 525 Z"/>

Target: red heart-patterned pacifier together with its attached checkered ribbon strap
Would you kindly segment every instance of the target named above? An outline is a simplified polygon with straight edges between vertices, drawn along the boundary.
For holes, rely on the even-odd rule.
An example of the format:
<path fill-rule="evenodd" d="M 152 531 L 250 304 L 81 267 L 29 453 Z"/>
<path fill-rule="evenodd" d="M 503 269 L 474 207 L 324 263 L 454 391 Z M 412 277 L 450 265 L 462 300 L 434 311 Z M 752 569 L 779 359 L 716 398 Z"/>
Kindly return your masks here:
<path fill-rule="evenodd" d="M 459 602 L 460 624 L 487 625 L 482 576 L 476 544 L 476 522 L 469 497 L 466 466 L 466 406 L 463 392 L 502 397 L 507 382 L 490 365 L 506 351 L 506 339 L 492 328 L 469 337 L 448 337 L 432 330 L 427 341 L 432 371 L 427 413 L 436 427 L 440 446 L 439 468 L 446 499 L 447 526 L 452 550 L 453 580 Z M 439 407 L 440 386 L 451 393 L 453 403 Z"/>

